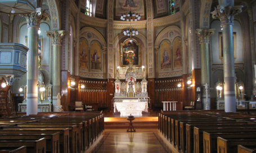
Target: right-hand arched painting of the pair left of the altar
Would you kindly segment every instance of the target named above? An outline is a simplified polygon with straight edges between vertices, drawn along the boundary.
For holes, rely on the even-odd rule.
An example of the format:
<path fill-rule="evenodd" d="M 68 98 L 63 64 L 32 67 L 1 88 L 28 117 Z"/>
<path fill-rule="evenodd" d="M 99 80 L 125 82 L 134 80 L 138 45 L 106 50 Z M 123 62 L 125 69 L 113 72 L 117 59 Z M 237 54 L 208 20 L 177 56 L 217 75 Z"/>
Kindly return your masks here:
<path fill-rule="evenodd" d="M 91 69 L 101 70 L 101 45 L 94 41 L 90 49 Z"/>

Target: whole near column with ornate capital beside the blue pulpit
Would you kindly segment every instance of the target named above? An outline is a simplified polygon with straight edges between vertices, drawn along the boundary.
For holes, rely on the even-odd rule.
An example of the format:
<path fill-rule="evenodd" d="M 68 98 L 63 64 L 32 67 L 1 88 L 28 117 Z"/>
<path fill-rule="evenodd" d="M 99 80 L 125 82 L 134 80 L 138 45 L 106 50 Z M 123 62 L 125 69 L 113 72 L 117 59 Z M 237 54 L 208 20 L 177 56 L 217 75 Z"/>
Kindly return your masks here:
<path fill-rule="evenodd" d="M 26 98 L 26 115 L 37 114 L 38 105 L 38 29 L 40 21 L 48 20 L 47 13 L 37 8 L 35 12 L 25 16 L 28 25 L 28 72 L 26 82 L 28 95 Z"/>

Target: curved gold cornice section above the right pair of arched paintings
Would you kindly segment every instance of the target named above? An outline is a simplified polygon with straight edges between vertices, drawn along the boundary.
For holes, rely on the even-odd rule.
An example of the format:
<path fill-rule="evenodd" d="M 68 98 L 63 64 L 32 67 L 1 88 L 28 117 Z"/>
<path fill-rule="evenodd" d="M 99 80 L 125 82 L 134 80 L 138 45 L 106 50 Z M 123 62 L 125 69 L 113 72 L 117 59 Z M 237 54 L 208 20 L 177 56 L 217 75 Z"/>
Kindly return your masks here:
<path fill-rule="evenodd" d="M 177 12 L 174 15 L 169 15 L 161 18 L 154 19 L 154 26 L 170 25 L 181 20 L 181 12 Z"/>

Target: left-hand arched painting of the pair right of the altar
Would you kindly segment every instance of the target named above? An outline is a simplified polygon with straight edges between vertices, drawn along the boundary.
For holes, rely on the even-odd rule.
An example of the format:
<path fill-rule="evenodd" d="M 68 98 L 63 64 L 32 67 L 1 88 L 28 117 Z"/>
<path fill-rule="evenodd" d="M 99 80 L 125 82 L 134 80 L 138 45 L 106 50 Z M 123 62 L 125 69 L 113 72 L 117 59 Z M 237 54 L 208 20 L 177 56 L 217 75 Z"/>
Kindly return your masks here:
<path fill-rule="evenodd" d="M 160 45 L 160 69 L 169 69 L 172 68 L 172 54 L 170 52 L 170 43 L 165 40 Z"/>

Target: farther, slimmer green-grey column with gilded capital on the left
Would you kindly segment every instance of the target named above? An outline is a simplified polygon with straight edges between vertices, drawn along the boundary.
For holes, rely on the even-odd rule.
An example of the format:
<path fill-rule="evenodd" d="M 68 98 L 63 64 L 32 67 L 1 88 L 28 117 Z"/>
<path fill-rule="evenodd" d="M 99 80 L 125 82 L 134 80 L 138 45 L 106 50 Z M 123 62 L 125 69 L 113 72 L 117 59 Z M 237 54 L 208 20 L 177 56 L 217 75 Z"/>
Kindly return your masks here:
<path fill-rule="evenodd" d="M 57 101 L 57 94 L 61 93 L 61 42 L 65 31 L 46 31 L 46 36 L 52 38 L 52 105 L 60 106 L 61 101 Z"/>

